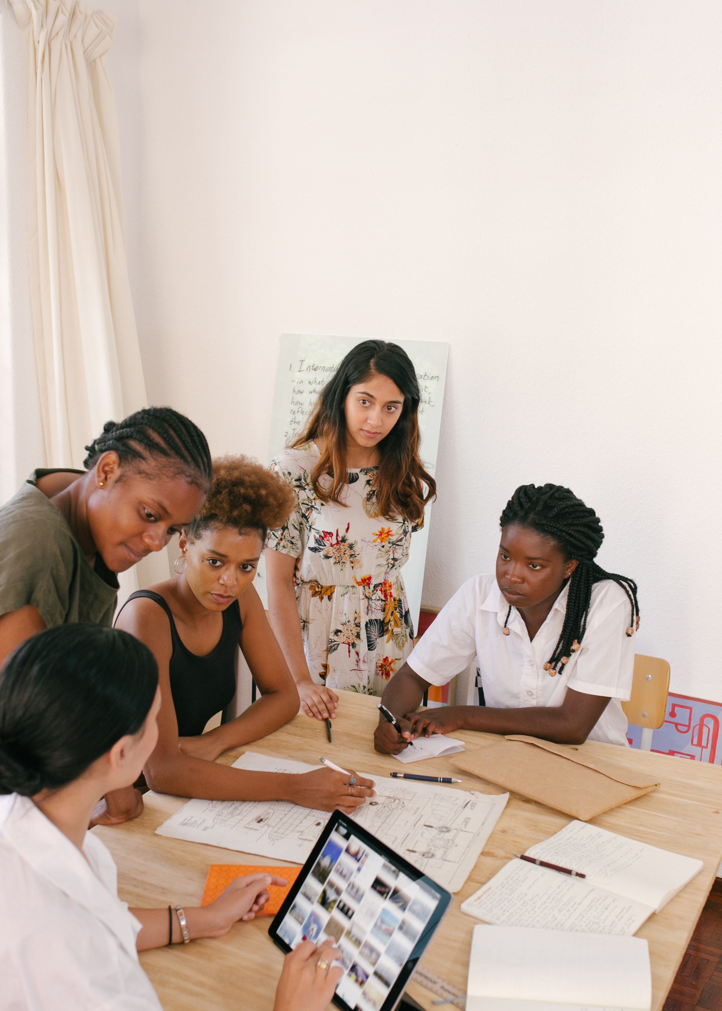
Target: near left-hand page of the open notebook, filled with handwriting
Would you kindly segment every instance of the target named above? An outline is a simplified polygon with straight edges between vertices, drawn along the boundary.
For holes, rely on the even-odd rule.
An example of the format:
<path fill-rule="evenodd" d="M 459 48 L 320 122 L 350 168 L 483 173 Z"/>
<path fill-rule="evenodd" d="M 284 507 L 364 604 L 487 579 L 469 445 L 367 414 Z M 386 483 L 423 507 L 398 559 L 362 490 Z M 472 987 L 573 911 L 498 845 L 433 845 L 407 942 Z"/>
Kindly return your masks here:
<path fill-rule="evenodd" d="M 486 923 L 591 934 L 636 933 L 654 912 L 633 899 L 524 860 L 510 860 L 461 904 Z"/>

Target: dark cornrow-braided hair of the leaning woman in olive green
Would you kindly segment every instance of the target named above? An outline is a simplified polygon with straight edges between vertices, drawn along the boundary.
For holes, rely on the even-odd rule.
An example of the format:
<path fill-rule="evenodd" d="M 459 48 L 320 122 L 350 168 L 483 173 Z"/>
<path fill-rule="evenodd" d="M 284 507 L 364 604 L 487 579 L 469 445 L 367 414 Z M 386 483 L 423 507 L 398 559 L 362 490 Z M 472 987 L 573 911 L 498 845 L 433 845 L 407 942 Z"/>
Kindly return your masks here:
<path fill-rule="evenodd" d="M 113 450 L 121 464 L 147 461 L 149 456 L 166 457 L 204 490 L 212 477 L 205 436 L 197 425 L 172 407 L 146 407 L 122 422 L 106 422 L 102 434 L 85 448 L 87 469 L 101 453 Z"/>

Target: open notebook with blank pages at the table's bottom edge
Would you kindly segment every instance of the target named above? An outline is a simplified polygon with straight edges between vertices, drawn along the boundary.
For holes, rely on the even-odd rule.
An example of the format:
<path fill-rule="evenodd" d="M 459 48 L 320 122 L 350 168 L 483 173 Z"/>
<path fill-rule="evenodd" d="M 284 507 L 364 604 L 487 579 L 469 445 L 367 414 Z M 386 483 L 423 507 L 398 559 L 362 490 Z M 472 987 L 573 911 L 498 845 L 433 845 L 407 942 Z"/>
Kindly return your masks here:
<path fill-rule="evenodd" d="M 474 927 L 466 1011 L 649 1011 L 651 1002 L 639 937 Z"/>

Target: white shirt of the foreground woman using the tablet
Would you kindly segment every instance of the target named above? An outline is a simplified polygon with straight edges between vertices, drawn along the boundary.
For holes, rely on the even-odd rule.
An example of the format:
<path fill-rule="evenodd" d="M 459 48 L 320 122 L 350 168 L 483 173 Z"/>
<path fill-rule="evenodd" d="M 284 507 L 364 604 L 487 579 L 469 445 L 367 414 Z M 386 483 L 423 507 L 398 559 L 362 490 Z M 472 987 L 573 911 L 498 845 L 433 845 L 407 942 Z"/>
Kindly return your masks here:
<path fill-rule="evenodd" d="M 81 853 L 29 798 L 0 796 L 3 1011 L 161 1011 L 140 929 L 92 832 Z"/>

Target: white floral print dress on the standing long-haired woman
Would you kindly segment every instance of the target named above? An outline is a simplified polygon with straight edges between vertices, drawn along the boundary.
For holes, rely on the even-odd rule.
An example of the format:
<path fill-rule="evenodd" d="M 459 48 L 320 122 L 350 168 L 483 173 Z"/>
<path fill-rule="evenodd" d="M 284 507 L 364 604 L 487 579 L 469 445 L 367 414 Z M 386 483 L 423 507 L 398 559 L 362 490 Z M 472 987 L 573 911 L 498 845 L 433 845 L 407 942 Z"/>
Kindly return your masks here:
<path fill-rule="evenodd" d="M 310 480 L 320 455 L 309 442 L 272 461 L 293 489 L 295 510 L 285 526 L 269 531 L 266 545 L 296 559 L 296 602 L 313 680 L 380 696 L 412 651 L 401 566 L 423 520 L 413 525 L 378 516 L 376 467 L 349 470 L 344 505 L 323 502 Z"/>

